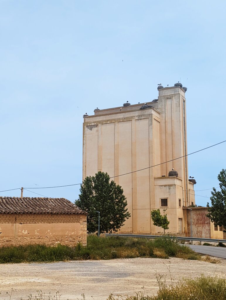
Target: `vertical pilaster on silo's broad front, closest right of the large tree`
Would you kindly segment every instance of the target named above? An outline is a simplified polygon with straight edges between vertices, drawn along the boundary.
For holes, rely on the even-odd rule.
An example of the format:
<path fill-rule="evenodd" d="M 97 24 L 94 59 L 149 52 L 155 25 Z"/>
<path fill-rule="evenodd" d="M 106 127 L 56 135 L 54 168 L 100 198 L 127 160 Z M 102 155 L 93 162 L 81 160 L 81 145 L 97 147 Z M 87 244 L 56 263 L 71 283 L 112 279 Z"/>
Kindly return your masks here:
<path fill-rule="evenodd" d="M 136 120 L 132 119 L 132 172 L 137 170 L 136 161 Z M 132 173 L 133 232 L 137 233 L 137 173 Z"/>

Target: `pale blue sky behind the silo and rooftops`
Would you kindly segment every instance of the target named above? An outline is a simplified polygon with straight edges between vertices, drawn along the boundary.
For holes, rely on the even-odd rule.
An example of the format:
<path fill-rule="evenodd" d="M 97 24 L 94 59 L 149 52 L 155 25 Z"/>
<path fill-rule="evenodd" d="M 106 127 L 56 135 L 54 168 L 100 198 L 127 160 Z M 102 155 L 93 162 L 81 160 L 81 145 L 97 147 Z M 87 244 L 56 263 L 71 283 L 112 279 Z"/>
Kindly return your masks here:
<path fill-rule="evenodd" d="M 83 114 L 152 101 L 158 83 L 188 88 L 188 153 L 226 140 L 225 10 L 225 1 L 0 0 L 0 190 L 81 183 Z M 188 156 L 197 205 L 219 186 L 225 152 L 222 143 Z M 32 191 L 74 202 L 79 187 Z"/>

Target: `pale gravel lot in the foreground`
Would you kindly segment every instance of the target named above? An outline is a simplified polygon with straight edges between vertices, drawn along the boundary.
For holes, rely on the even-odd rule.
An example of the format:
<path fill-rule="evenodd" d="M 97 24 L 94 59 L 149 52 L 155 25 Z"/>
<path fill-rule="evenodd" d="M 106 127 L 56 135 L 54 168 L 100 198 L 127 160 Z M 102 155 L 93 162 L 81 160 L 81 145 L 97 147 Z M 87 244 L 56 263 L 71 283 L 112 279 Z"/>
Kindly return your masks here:
<path fill-rule="evenodd" d="M 41 289 L 52 295 L 59 291 L 61 300 L 81 299 L 104 300 L 110 293 L 133 295 L 145 288 L 153 295 L 158 290 L 157 274 L 165 274 L 170 282 L 169 271 L 174 280 L 182 277 L 194 278 L 205 275 L 219 275 L 226 278 L 226 260 L 219 264 L 183 260 L 179 258 L 133 258 L 98 261 L 70 261 L 55 263 L 2 264 L 0 265 L 0 299 L 9 299 L 6 294 L 14 289 L 11 300 L 28 299 Z M 47 297 L 46 297 L 47 299 Z"/>

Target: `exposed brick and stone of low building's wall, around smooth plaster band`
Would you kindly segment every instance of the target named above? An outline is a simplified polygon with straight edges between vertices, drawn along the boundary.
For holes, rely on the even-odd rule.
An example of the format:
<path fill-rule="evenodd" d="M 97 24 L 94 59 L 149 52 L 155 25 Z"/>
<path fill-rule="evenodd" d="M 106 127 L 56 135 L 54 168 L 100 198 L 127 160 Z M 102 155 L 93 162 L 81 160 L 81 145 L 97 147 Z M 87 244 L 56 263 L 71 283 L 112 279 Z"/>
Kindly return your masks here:
<path fill-rule="evenodd" d="M 0 224 L 48 224 L 54 223 L 56 227 L 60 223 L 79 223 L 80 232 L 77 235 L 64 236 L 2 236 L 0 233 L 0 247 L 26 244 L 46 244 L 54 246 L 57 244 L 75 246 L 82 243 L 86 246 L 87 223 L 85 214 L 0 214 Z"/>

